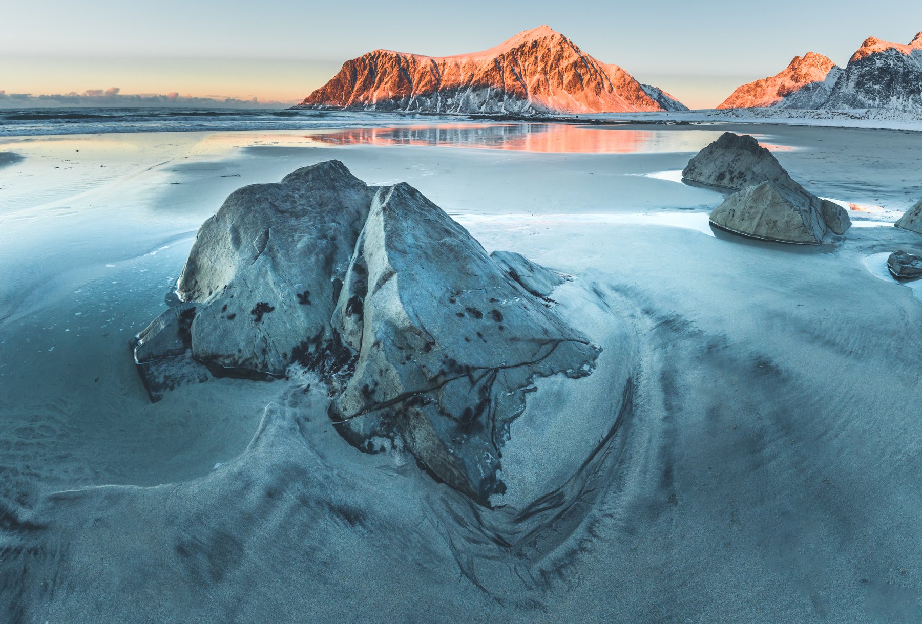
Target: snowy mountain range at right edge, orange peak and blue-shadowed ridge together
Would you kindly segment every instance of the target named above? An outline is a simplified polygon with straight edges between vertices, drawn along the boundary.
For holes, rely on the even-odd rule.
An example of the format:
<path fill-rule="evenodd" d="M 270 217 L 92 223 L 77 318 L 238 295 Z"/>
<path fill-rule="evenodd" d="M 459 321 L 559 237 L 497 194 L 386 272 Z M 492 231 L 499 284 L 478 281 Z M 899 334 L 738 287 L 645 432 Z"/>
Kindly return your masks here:
<path fill-rule="evenodd" d="M 821 54 L 796 57 L 780 74 L 738 88 L 718 108 L 756 107 L 922 112 L 922 32 L 908 44 L 869 37 L 844 69 Z"/>

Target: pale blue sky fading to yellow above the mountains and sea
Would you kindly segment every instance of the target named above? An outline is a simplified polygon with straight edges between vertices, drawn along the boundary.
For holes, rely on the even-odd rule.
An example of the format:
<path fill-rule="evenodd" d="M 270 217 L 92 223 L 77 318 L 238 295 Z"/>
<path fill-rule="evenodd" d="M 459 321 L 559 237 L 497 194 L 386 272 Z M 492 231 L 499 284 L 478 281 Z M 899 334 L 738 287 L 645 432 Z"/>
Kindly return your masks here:
<path fill-rule="evenodd" d="M 467 53 L 549 24 L 600 61 L 692 107 L 711 107 L 795 54 L 813 50 L 845 65 L 869 35 L 907 42 L 922 30 L 922 3 L 912 0 L 3 0 L 2 9 L 0 89 L 7 93 L 119 87 L 261 100 L 300 100 L 343 61 L 374 48 Z"/>

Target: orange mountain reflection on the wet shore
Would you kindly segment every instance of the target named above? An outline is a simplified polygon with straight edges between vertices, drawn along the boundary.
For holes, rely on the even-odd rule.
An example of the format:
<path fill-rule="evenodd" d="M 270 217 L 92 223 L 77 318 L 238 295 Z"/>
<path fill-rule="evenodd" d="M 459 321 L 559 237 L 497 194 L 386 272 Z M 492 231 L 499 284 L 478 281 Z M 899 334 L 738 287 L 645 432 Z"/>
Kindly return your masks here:
<path fill-rule="evenodd" d="M 558 153 L 693 151 L 719 133 L 627 130 L 571 124 L 452 124 L 356 128 L 319 135 L 325 143 L 438 146 Z"/>

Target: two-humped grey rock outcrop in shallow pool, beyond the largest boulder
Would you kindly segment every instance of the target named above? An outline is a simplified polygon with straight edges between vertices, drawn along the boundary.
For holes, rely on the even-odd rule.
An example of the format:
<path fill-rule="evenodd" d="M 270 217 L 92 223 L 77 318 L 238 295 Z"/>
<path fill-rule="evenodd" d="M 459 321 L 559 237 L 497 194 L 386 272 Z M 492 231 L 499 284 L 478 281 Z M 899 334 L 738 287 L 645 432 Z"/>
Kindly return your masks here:
<path fill-rule="evenodd" d="M 820 244 L 851 227 L 845 208 L 810 194 L 750 135 L 726 132 L 704 147 L 682 177 L 739 191 L 711 213 L 718 228 L 767 241 Z"/>

